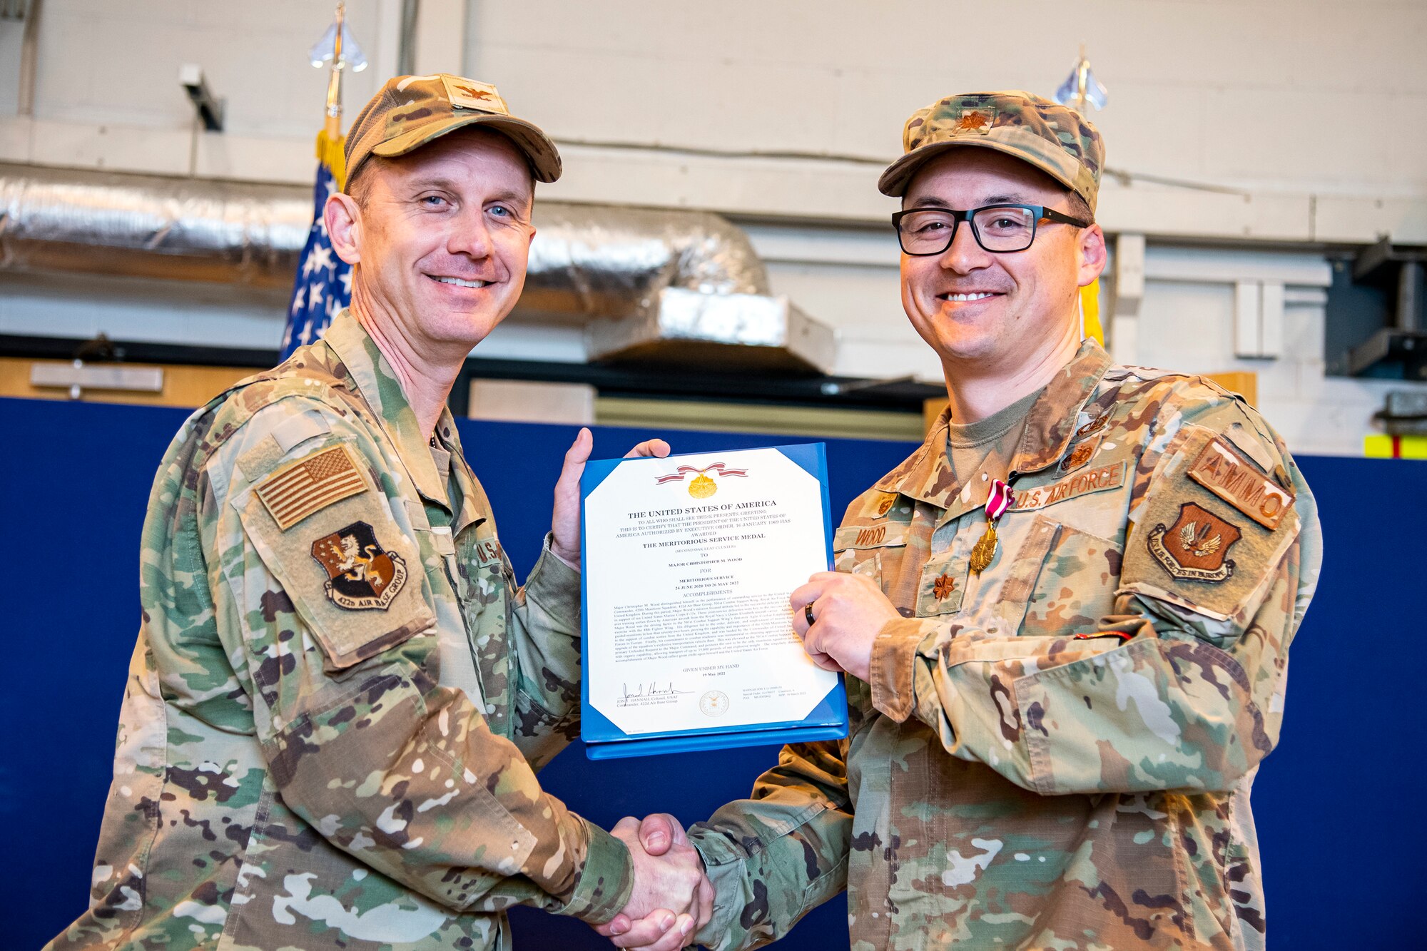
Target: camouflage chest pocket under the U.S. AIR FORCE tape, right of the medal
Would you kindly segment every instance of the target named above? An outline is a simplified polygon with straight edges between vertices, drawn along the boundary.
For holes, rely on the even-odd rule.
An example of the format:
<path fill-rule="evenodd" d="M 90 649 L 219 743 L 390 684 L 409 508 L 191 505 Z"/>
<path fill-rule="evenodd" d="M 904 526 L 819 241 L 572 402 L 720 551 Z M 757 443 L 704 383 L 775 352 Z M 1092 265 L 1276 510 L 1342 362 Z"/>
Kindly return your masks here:
<path fill-rule="evenodd" d="M 1022 635 L 1093 630 L 1114 608 L 1120 560 L 1113 541 L 1037 515 L 1002 585 L 996 613 Z"/>

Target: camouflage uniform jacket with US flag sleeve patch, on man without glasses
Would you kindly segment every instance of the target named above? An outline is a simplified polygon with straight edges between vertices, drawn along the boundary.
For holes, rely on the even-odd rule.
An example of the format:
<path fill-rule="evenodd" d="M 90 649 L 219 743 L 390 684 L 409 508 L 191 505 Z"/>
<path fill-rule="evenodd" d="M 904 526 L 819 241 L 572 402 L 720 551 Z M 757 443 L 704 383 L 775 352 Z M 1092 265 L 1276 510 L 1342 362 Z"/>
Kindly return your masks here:
<path fill-rule="evenodd" d="M 509 948 L 606 921 L 628 851 L 544 794 L 577 730 L 579 575 L 517 588 L 375 344 L 325 338 L 198 410 L 144 523 L 138 644 L 68 948 Z"/>

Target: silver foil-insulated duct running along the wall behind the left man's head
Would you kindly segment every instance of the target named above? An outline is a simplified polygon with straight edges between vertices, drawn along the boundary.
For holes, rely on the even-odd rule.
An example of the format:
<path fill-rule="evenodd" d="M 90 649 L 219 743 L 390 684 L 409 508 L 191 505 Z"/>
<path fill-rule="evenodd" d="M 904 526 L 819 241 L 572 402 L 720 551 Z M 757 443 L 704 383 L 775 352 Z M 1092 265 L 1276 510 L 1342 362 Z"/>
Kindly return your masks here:
<path fill-rule="evenodd" d="M 0 271 L 288 288 L 310 191 L 0 164 Z M 831 328 L 768 294 L 716 214 L 537 200 L 521 311 L 585 326 L 591 360 L 831 373 Z"/>

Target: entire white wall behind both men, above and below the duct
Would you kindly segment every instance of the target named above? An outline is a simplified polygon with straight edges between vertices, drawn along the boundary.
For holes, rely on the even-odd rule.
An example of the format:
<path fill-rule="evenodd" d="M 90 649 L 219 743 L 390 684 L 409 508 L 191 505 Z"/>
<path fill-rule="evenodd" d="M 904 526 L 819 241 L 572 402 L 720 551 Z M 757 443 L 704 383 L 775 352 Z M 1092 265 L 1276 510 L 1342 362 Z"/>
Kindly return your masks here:
<path fill-rule="evenodd" d="M 400 0 L 351 0 L 372 66 L 348 116 L 395 71 Z M 1323 377 L 1323 241 L 1427 243 L 1423 0 L 422 0 L 417 69 L 495 81 L 562 143 L 541 194 L 702 207 L 749 230 L 776 293 L 838 328 L 838 371 L 938 378 L 898 303 L 895 203 L 875 190 L 908 113 L 970 89 L 1050 93 L 1085 41 L 1110 104 L 1100 220 L 1149 237 L 1120 356 L 1251 368 L 1294 446 L 1359 453 L 1391 384 Z M 33 116 L 19 116 L 23 24 L 0 21 L 0 161 L 305 183 L 325 74 L 308 46 L 330 0 L 44 0 Z M 227 100 L 195 131 L 177 83 Z M 1179 184 L 1166 183 L 1173 180 Z M 1184 183 L 1197 187 L 1184 187 Z M 1274 250 L 1182 251 L 1183 237 Z M 1270 246 L 1266 246 L 1270 247 Z M 1283 247 L 1299 247 L 1287 260 Z M 1284 271 L 1287 268 L 1287 271 Z M 1287 273 L 1287 277 L 1284 277 Z M 1277 277 L 1276 277 L 1277 276 Z M 1236 280 L 1290 294 L 1274 360 L 1233 347 Z M 1299 280 L 1299 284 L 1293 281 Z M 1297 290 L 1294 290 L 1297 288 Z M 1319 296 L 1314 297 L 1314 293 Z M 281 303 L 191 284 L 6 278 L 0 333 L 264 347 Z M 517 314 L 489 356 L 581 360 L 579 330 Z"/>

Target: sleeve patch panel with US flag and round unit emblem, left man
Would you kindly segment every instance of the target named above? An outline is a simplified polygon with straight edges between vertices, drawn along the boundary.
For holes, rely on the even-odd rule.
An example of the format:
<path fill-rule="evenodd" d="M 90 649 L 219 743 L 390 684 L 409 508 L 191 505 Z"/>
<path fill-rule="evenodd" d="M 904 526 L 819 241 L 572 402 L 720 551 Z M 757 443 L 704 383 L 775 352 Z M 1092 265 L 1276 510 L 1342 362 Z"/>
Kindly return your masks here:
<path fill-rule="evenodd" d="M 421 553 L 367 468 L 351 446 L 328 443 L 231 500 L 332 671 L 435 627 Z"/>

